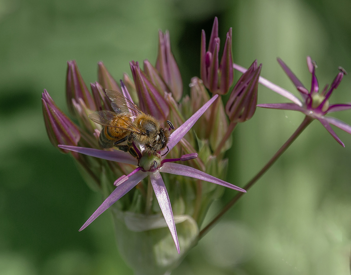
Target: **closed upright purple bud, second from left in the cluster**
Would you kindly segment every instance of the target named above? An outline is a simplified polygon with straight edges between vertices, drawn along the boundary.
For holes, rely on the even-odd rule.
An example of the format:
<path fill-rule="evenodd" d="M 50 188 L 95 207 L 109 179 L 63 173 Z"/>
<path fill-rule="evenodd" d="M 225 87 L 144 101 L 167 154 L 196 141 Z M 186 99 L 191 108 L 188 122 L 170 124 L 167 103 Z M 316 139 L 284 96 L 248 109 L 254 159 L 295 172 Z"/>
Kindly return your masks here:
<path fill-rule="evenodd" d="M 74 114 L 72 99 L 78 101 L 80 98 L 91 110 L 96 110 L 94 100 L 85 85 L 84 80 L 78 70 L 75 60 L 67 61 L 66 77 L 66 100 L 69 111 Z"/>

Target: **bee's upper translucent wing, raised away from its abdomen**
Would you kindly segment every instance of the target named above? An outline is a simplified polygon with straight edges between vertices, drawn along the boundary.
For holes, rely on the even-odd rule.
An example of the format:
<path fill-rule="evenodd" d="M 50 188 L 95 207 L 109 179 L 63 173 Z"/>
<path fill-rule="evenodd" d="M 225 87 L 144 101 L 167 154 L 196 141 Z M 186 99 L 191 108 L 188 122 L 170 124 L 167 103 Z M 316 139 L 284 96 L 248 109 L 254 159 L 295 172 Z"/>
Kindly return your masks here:
<path fill-rule="evenodd" d="M 137 105 L 114 90 L 105 90 L 106 95 L 111 99 L 111 107 L 116 113 L 128 112 L 133 116 L 144 114 Z"/>

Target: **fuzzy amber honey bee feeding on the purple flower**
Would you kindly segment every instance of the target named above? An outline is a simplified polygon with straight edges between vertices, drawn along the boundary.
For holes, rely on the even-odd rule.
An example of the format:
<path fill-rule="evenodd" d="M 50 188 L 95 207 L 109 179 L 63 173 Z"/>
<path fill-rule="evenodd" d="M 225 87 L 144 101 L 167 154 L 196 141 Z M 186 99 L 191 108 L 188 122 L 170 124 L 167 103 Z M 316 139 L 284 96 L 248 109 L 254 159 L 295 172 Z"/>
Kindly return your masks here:
<path fill-rule="evenodd" d="M 157 119 L 143 113 L 120 93 L 106 89 L 106 94 L 112 101 L 114 112 L 102 110 L 89 115 L 92 121 L 105 126 L 99 136 L 100 147 L 116 147 L 139 159 L 133 148 L 133 143 L 136 142 L 145 152 L 160 157 L 159 152 L 166 147 L 168 149 L 170 130 L 174 129 L 172 123 L 167 120 L 170 128 L 165 129 Z M 125 141 L 127 145 L 121 145 Z"/>

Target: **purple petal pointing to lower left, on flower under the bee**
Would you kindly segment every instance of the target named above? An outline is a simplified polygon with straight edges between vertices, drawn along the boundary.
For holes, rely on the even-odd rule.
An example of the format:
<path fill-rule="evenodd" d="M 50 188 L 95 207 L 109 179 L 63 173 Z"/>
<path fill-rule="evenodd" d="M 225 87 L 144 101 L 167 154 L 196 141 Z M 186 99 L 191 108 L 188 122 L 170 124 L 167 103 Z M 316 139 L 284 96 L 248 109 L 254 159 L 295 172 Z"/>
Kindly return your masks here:
<path fill-rule="evenodd" d="M 99 206 L 98 209 L 90 216 L 90 218 L 83 224 L 79 231 L 86 228 L 89 224 L 92 223 L 98 216 L 100 216 L 107 208 L 109 208 L 113 203 L 118 201 L 122 196 L 127 194 L 135 185 L 137 185 L 141 180 L 143 180 L 148 173 L 137 172 L 134 175 L 130 176 L 127 181 L 117 186 L 110 196 Z"/>

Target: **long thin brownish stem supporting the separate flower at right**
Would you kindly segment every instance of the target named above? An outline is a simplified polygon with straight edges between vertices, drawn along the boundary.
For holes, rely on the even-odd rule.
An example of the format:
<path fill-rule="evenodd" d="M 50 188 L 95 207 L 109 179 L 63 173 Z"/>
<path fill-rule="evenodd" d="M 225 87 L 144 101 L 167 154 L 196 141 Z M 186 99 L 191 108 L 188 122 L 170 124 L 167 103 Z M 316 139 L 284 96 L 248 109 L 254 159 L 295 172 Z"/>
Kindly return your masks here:
<path fill-rule="evenodd" d="M 312 118 L 310 116 L 306 116 L 301 125 L 296 129 L 296 131 L 291 135 L 291 137 L 283 144 L 282 147 L 274 154 L 274 156 L 267 162 L 267 164 L 254 176 L 248 183 L 246 183 L 244 189 L 247 191 L 251 186 L 264 174 L 266 171 L 273 165 L 274 162 L 280 157 L 285 150 L 291 145 L 291 143 L 302 133 L 302 131 L 312 122 Z M 227 205 L 221 210 L 221 212 L 210 222 L 207 226 L 202 229 L 199 233 L 199 239 L 201 239 L 210 228 L 216 223 L 224 213 L 226 213 L 233 205 L 236 203 L 242 195 L 245 193 L 238 193 L 233 199 L 227 203 Z"/>

